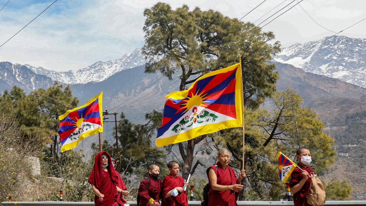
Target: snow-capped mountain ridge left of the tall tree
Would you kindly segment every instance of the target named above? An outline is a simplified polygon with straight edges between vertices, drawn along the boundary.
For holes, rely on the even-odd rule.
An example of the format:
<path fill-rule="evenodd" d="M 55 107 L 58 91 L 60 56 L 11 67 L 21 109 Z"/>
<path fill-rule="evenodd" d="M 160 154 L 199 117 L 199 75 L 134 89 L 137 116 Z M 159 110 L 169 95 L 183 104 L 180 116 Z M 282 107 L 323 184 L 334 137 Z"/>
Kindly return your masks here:
<path fill-rule="evenodd" d="M 124 54 L 122 58 L 109 60 L 108 62 L 96 62 L 86 68 L 77 71 L 54 71 L 43 67 L 24 65 L 36 74 L 50 77 L 54 81 L 66 84 L 85 84 L 87 82 L 101 82 L 119 71 L 141 66 L 146 63 L 141 49 L 135 49 L 131 54 Z"/>

